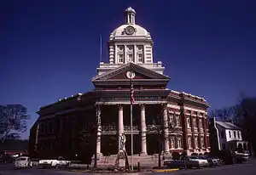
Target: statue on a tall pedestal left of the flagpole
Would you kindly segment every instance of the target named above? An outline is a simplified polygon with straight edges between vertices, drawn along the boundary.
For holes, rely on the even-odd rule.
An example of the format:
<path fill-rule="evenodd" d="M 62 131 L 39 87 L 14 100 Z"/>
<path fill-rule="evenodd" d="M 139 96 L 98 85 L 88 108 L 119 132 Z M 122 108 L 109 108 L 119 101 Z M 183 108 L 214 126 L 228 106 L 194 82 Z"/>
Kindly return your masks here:
<path fill-rule="evenodd" d="M 114 163 L 114 171 L 130 171 L 127 152 L 125 150 L 125 134 L 119 135 L 119 153 Z"/>

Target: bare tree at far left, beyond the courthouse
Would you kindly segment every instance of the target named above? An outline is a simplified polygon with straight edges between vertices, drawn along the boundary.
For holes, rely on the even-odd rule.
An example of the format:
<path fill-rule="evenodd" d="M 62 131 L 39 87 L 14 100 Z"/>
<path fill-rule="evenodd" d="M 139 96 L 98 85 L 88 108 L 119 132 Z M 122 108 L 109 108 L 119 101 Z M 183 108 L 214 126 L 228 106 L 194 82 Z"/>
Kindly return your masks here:
<path fill-rule="evenodd" d="M 21 104 L 0 105 L 0 139 L 20 138 L 26 132 L 26 121 L 30 119 L 26 107 Z"/>

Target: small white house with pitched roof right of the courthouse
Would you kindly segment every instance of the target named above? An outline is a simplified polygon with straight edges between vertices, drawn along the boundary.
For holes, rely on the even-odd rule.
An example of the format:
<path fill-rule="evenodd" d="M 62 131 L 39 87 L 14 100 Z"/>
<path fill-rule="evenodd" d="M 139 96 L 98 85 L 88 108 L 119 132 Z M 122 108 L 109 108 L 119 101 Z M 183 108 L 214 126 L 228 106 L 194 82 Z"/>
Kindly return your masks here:
<path fill-rule="evenodd" d="M 240 127 L 231 122 L 216 121 L 215 118 L 212 119 L 211 127 L 211 147 L 215 150 L 236 150 L 239 144 L 243 150 L 247 150 L 248 143 L 242 140 Z"/>

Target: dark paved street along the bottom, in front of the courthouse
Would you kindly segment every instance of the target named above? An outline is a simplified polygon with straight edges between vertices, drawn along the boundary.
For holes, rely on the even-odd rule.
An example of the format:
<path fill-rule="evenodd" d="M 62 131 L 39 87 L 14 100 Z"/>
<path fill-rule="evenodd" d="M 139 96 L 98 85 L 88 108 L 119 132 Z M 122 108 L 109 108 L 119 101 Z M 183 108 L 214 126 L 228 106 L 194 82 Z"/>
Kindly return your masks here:
<path fill-rule="evenodd" d="M 129 173 L 129 174 L 143 174 L 141 173 Z M 151 173 L 151 172 L 149 172 Z M 190 170 L 178 170 L 175 172 L 153 172 L 153 174 L 173 174 L 173 175 L 255 175 L 256 174 L 256 161 L 252 160 L 243 164 L 227 165 L 221 167 L 207 167 L 202 169 L 190 169 Z M 88 174 L 88 172 L 69 172 L 65 169 L 40 169 L 33 167 L 32 169 L 15 170 L 14 166 L 0 165 L 0 175 L 55 175 L 55 174 Z M 96 173 L 95 173 L 96 174 Z M 100 173 L 99 173 L 100 174 Z M 101 173 L 102 175 L 102 173 Z"/>

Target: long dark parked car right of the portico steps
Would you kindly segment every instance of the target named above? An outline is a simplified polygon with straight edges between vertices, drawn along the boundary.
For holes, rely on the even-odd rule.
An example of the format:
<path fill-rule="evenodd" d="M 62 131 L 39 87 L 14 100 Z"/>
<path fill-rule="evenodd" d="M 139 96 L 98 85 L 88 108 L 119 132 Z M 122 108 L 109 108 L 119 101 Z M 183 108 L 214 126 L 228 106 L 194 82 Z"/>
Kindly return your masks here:
<path fill-rule="evenodd" d="M 164 165 L 170 168 L 200 168 L 207 167 L 209 165 L 207 160 L 203 159 L 191 159 L 189 156 L 181 156 L 179 160 L 164 161 Z"/>

